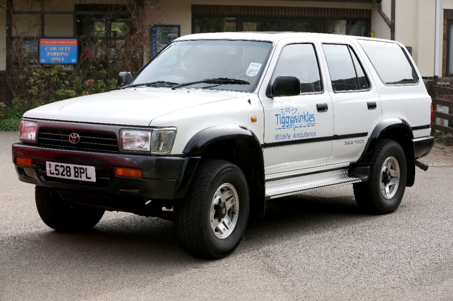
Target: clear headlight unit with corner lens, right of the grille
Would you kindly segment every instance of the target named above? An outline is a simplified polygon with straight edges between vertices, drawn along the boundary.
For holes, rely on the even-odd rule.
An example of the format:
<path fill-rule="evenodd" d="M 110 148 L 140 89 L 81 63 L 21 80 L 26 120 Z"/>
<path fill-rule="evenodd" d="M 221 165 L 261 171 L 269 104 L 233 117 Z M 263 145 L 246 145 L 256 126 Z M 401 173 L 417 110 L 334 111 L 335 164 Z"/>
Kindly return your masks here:
<path fill-rule="evenodd" d="M 175 128 L 121 129 L 119 144 L 122 151 L 150 151 L 154 154 L 167 154 L 171 151 L 175 136 Z"/>

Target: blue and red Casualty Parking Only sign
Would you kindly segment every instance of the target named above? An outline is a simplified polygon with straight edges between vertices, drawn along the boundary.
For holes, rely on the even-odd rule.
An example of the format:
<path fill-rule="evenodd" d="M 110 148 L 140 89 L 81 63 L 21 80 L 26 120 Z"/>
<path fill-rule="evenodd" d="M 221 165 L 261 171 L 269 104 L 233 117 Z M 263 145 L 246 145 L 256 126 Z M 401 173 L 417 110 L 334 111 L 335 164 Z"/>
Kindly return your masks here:
<path fill-rule="evenodd" d="M 40 38 L 39 64 L 77 64 L 76 38 Z"/>

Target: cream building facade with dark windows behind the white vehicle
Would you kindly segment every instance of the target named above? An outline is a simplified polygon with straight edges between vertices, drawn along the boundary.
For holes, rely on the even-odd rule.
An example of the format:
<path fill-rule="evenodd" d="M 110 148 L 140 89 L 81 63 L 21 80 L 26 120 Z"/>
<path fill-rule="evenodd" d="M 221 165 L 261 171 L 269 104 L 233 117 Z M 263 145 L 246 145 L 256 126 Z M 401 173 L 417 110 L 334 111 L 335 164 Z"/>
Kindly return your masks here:
<path fill-rule="evenodd" d="M 138 45 L 140 65 L 176 37 L 217 31 L 394 39 L 423 77 L 453 79 L 453 0 L 6 0 L 0 9 L 0 102 L 11 100 L 21 60 L 71 68 Z M 136 31 L 142 44 L 131 42 Z"/>

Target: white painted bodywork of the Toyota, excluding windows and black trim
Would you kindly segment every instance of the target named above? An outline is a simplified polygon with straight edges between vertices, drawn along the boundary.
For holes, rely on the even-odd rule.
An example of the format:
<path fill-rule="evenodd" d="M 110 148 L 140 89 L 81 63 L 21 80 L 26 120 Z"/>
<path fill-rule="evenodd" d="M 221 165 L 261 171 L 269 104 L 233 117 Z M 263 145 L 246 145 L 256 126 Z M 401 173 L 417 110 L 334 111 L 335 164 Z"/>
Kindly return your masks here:
<path fill-rule="evenodd" d="M 310 33 L 210 33 L 178 38 L 176 41 L 197 39 L 257 40 L 273 43 L 267 63 L 255 91 L 236 92 L 201 88 L 136 87 L 118 91 L 74 98 L 36 108 L 25 113 L 35 119 L 111 124 L 140 127 L 175 127 L 176 138 L 172 155 L 183 154 L 190 139 L 203 129 L 216 126 L 241 126 L 249 129 L 263 146 L 266 180 L 348 167 L 358 159 L 365 148 L 369 134 L 381 119 L 401 118 L 409 126 L 427 125 L 430 122 L 430 98 L 423 82 L 416 85 L 385 86 L 355 37 Z M 360 38 L 366 39 L 366 38 Z M 378 40 L 378 39 L 376 39 Z M 384 41 L 384 40 L 382 40 Z M 385 41 L 390 42 L 390 41 Z M 302 94 L 291 97 L 266 96 L 274 66 L 285 45 L 312 43 L 320 64 L 322 93 Z M 322 43 L 350 45 L 370 81 L 370 90 L 334 93 Z M 396 43 L 393 42 L 392 43 Z M 400 46 L 402 44 L 398 43 Z M 382 55 L 385 55 L 384 53 Z M 412 64 L 413 61 L 412 61 Z M 414 64 L 415 65 L 415 64 Z M 416 70 L 419 78 L 420 73 Z M 359 138 L 363 143 L 345 145 L 343 140 L 328 140 L 269 146 L 269 143 L 303 140 L 293 137 L 296 129 L 288 129 L 291 138 L 277 139 L 285 130 L 276 126 L 276 114 L 282 103 L 290 101 L 299 111 L 316 115 L 316 137 L 368 132 Z M 377 108 L 369 110 L 367 102 L 376 102 Z M 316 104 L 326 103 L 327 112 L 317 112 Z M 251 118 L 257 121 L 252 122 Z M 95 125 L 93 126 L 95 128 Z M 416 137 L 429 135 L 430 129 L 417 130 Z M 301 142 L 301 141 L 299 141 Z M 302 141 L 303 142 L 303 141 Z M 274 144 L 275 145 L 275 144 Z"/>

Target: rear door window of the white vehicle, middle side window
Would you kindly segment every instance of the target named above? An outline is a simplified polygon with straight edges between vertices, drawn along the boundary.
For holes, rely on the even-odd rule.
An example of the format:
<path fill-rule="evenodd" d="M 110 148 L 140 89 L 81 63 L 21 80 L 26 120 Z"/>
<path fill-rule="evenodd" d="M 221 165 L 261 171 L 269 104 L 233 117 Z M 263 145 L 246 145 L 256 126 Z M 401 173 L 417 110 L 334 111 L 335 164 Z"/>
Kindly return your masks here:
<path fill-rule="evenodd" d="M 323 44 L 322 47 L 335 92 L 366 90 L 370 87 L 362 65 L 351 47 L 343 44 Z"/>

